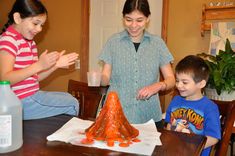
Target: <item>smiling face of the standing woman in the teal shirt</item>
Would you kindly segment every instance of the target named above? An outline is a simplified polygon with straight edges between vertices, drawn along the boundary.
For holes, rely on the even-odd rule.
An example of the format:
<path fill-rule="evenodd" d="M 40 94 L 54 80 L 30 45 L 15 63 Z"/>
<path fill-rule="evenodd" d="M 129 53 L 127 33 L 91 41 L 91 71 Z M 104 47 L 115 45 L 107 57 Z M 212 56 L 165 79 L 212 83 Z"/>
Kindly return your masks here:
<path fill-rule="evenodd" d="M 135 10 L 130 14 L 124 15 L 123 20 L 124 26 L 126 27 L 132 41 L 136 43 L 140 42 L 146 24 L 149 22 L 149 18 L 144 16 L 140 11 Z"/>

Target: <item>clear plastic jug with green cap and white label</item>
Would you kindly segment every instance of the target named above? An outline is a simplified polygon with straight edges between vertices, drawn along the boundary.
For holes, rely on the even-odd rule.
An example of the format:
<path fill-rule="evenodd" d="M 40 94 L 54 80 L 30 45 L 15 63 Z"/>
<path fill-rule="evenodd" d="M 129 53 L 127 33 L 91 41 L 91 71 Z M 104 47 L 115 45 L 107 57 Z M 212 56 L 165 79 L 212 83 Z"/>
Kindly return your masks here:
<path fill-rule="evenodd" d="M 9 81 L 0 81 L 0 153 L 20 148 L 22 138 L 22 105 L 10 88 Z"/>

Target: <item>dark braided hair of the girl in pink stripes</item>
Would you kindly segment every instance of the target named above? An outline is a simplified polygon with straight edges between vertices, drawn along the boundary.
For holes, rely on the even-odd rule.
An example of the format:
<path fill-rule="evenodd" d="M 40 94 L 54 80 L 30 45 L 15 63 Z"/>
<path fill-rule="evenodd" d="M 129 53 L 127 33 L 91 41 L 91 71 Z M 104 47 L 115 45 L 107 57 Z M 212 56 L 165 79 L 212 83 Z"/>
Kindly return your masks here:
<path fill-rule="evenodd" d="M 5 32 L 7 27 L 14 23 L 13 15 L 18 12 L 22 19 L 34 17 L 40 14 L 47 14 L 47 9 L 40 0 L 16 0 L 8 14 L 8 21 L 4 25 L 2 32 Z"/>

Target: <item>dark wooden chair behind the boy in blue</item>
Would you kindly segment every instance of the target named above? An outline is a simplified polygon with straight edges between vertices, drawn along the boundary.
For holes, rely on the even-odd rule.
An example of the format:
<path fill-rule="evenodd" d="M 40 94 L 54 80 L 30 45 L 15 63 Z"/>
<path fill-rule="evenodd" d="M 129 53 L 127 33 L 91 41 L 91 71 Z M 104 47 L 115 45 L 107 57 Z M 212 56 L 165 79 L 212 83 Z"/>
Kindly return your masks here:
<path fill-rule="evenodd" d="M 233 123 L 235 121 L 235 100 L 234 101 L 213 100 L 213 101 L 219 107 L 221 115 L 222 134 L 219 143 L 213 146 L 211 155 L 226 156 L 229 141 L 232 136 Z"/>

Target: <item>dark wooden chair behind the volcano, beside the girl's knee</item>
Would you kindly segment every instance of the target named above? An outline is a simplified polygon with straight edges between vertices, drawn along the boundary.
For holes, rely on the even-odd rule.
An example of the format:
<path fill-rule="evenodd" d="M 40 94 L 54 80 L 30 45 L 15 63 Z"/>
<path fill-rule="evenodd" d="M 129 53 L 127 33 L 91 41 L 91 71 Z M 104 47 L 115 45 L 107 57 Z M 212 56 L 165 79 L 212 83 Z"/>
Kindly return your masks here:
<path fill-rule="evenodd" d="M 102 105 L 108 87 L 88 87 L 86 82 L 69 80 L 68 93 L 79 101 L 78 117 L 95 119 L 99 105 Z"/>

